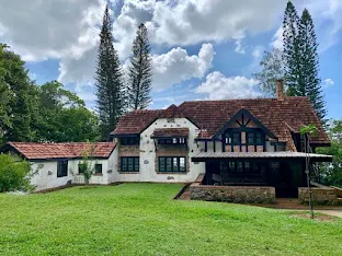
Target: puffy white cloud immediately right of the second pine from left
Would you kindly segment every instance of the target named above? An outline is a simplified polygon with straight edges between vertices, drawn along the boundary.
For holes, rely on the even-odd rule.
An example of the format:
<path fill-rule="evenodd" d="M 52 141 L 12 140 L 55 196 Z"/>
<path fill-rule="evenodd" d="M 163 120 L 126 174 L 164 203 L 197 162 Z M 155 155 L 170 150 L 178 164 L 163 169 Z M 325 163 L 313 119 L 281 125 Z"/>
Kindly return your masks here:
<path fill-rule="evenodd" d="M 212 68 L 212 44 L 203 44 L 198 56 L 189 56 L 181 47 L 153 56 L 153 89 L 161 90 L 192 78 L 203 78 Z"/>

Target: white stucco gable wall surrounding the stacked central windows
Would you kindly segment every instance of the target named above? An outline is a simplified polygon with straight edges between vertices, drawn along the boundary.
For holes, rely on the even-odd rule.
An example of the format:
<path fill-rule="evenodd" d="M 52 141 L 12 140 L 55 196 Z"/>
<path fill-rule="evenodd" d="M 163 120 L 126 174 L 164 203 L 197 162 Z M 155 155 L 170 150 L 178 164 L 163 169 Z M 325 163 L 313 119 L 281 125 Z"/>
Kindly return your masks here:
<path fill-rule="evenodd" d="M 189 172 L 187 173 L 168 173 L 161 174 L 156 170 L 156 147 L 151 135 L 156 128 L 189 128 Z M 139 173 L 119 173 L 115 168 L 117 182 L 155 182 L 155 183 L 190 183 L 194 182 L 200 173 L 205 172 L 204 163 L 193 163 L 191 158 L 204 150 L 203 143 L 195 142 L 197 136 L 197 127 L 186 118 L 174 118 L 173 123 L 169 123 L 166 118 L 160 118 L 152 123 L 140 135 L 140 153 L 139 153 Z M 174 156 L 172 152 L 169 156 Z"/>

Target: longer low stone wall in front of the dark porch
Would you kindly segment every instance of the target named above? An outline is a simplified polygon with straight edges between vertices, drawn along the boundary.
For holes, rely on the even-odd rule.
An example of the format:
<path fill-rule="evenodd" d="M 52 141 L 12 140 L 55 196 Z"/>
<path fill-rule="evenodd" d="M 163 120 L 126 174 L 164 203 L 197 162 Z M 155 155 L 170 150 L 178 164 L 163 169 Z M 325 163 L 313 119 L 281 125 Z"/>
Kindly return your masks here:
<path fill-rule="evenodd" d="M 227 201 L 237 203 L 273 203 L 274 187 L 207 186 L 194 183 L 190 186 L 191 199 Z"/>

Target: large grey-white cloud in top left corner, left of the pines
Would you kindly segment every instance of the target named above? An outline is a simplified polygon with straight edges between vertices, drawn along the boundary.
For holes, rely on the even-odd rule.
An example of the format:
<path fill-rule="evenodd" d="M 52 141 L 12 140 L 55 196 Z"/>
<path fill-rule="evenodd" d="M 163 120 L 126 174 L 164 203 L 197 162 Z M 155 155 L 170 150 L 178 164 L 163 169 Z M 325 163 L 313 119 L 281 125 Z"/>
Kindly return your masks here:
<path fill-rule="evenodd" d="M 103 0 L 0 0 L 0 40 L 24 60 L 78 58 L 96 44 Z"/>

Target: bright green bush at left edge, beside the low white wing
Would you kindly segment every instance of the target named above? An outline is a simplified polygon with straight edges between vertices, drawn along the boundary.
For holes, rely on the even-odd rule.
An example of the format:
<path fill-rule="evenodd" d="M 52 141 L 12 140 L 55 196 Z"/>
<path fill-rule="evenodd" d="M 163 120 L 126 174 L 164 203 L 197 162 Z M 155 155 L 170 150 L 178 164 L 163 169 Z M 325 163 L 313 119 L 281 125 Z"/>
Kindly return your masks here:
<path fill-rule="evenodd" d="M 10 154 L 0 154 L 0 193 L 32 190 L 31 164 Z"/>

